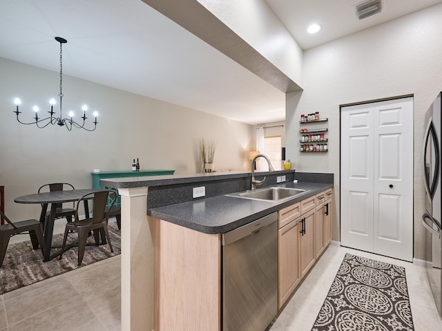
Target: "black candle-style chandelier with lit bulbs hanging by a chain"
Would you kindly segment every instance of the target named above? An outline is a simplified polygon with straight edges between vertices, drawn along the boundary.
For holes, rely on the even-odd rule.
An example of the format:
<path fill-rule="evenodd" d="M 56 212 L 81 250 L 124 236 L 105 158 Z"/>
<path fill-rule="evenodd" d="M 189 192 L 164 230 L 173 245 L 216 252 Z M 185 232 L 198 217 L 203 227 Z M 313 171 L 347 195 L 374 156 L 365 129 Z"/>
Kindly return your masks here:
<path fill-rule="evenodd" d="M 19 111 L 19 105 L 21 103 L 19 98 L 15 99 L 15 105 L 16 105 L 16 110 L 15 110 L 15 114 L 17 114 L 17 121 L 19 121 L 19 123 L 21 124 L 25 124 L 25 125 L 30 125 L 30 124 L 35 124 L 38 128 L 45 128 L 46 126 L 48 126 L 49 124 L 57 124 L 58 126 L 66 126 L 66 128 L 70 131 L 72 130 L 73 127 L 75 128 L 80 128 L 80 129 L 84 129 L 87 131 L 93 131 L 97 128 L 97 112 L 94 112 L 94 117 L 95 117 L 95 121 L 93 121 L 94 124 L 94 128 L 93 129 L 88 129 L 84 127 L 84 124 L 86 123 L 86 119 L 88 119 L 86 117 L 86 110 L 88 110 L 88 107 L 86 105 L 84 105 L 81 110 L 83 110 L 83 116 L 80 117 L 80 119 L 82 119 L 82 123 L 77 123 L 76 121 L 73 120 L 74 117 L 74 113 L 73 112 L 69 112 L 69 118 L 63 118 L 62 116 L 62 112 L 61 112 L 61 101 L 64 97 L 63 95 L 63 88 L 62 88 L 62 84 L 63 84 L 63 77 L 62 77 L 62 69 L 63 69 L 63 64 L 62 64 L 62 45 L 64 43 L 67 43 L 68 41 L 64 38 L 61 37 L 55 37 L 55 40 L 58 41 L 60 43 L 60 93 L 58 94 L 59 98 L 60 98 L 60 114 L 59 117 L 55 117 L 55 112 L 54 112 L 54 105 L 55 105 L 55 99 L 50 99 L 49 103 L 50 103 L 50 112 L 48 112 L 50 114 L 50 116 L 41 119 L 38 117 L 38 111 L 39 108 L 37 106 L 34 106 L 34 108 L 32 108 L 32 110 L 34 110 L 35 112 L 35 121 L 29 122 L 29 123 L 25 123 L 20 121 L 19 119 L 19 114 L 21 114 L 21 112 Z"/>

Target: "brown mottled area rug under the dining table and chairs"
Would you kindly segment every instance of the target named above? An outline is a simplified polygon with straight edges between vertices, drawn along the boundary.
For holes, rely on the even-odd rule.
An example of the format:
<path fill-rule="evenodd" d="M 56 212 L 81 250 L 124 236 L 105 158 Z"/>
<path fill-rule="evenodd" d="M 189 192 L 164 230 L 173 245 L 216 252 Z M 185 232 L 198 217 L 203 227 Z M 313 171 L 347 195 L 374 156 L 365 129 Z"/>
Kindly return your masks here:
<path fill-rule="evenodd" d="M 108 229 L 113 252 L 111 252 L 108 244 L 86 246 L 83 262 L 80 267 L 77 265 L 77 247 L 70 248 L 70 250 L 64 252 L 61 260 L 56 257 L 48 262 L 44 262 L 41 250 L 33 250 L 30 240 L 8 245 L 6 257 L 0 268 L 0 294 L 17 290 L 23 286 L 37 283 L 37 281 L 57 276 L 57 274 L 63 274 L 64 272 L 120 254 L 121 237 L 117 224 L 109 223 Z M 28 234 L 26 236 L 29 238 Z M 73 243 L 75 241 L 77 241 L 77 233 L 68 234 L 66 243 Z M 93 236 L 90 236 L 88 243 L 94 242 Z M 52 245 L 61 245 L 62 243 L 63 234 L 55 234 L 52 237 Z M 61 248 L 52 248 L 51 254 L 59 250 Z"/>

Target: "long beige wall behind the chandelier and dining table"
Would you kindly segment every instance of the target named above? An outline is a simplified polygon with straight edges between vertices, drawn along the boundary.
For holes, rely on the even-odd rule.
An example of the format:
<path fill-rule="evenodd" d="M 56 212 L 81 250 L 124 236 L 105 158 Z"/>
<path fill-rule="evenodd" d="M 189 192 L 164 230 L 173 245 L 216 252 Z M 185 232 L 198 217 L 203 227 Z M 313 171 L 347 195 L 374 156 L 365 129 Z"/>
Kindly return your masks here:
<path fill-rule="evenodd" d="M 13 113 L 15 97 L 22 101 L 23 121 L 32 121 L 35 104 L 39 117 L 48 114 L 48 100 L 59 92 L 59 74 L 1 58 L 0 72 L 0 185 L 5 185 L 11 218 L 39 217 L 39 205 L 19 205 L 15 197 L 56 181 L 90 188 L 95 168 L 131 170 L 134 157 L 142 170 L 200 172 L 201 137 L 217 142 L 215 170 L 248 168 L 252 126 L 68 76 L 63 79 L 64 116 L 87 103 L 90 114 L 99 112 L 97 130 L 23 126 Z"/>

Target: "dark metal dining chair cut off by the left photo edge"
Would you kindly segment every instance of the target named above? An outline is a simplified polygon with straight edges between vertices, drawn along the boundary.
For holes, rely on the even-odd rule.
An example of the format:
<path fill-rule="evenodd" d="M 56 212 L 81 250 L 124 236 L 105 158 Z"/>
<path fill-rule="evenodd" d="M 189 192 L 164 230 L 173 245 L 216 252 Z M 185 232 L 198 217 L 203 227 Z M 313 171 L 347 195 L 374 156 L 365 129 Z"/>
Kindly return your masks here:
<path fill-rule="evenodd" d="M 41 254 L 44 254 L 43 225 L 37 219 L 12 222 L 1 210 L 0 216 L 6 220 L 6 224 L 0 225 L 0 268 L 6 256 L 9 239 L 15 234 L 29 232 L 32 247 L 37 250 L 40 245 Z"/>

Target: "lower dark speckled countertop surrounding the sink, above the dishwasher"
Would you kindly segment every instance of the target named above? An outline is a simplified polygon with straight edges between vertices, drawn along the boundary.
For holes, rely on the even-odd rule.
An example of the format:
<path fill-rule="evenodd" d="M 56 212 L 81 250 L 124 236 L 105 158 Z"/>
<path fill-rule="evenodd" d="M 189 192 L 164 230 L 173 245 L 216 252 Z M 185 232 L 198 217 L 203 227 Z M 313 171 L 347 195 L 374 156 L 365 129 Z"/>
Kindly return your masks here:
<path fill-rule="evenodd" d="M 220 234 L 323 192 L 332 188 L 333 184 L 290 181 L 272 186 L 301 188 L 308 191 L 279 203 L 220 195 L 148 209 L 147 214 L 199 232 Z"/>

